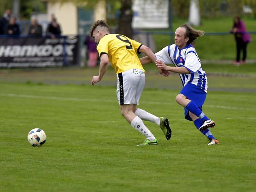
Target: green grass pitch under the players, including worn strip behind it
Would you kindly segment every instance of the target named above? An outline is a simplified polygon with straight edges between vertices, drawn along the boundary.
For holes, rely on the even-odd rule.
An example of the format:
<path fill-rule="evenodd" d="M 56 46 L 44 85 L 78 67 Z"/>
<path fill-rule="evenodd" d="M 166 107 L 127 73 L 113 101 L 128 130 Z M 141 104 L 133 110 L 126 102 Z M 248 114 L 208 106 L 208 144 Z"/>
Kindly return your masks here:
<path fill-rule="evenodd" d="M 255 65 L 222 66 L 204 67 L 218 146 L 184 119 L 179 77 L 152 66 L 139 107 L 168 117 L 173 134 L 145 122 L 159 141 L 145 147 L 120 114 L 113 69 L 94 87 L 98 68 L 0 70 L 0 191 L 255 191 Z M 33 128 L 46 133 L 42 147 L 27 141 Z"/>

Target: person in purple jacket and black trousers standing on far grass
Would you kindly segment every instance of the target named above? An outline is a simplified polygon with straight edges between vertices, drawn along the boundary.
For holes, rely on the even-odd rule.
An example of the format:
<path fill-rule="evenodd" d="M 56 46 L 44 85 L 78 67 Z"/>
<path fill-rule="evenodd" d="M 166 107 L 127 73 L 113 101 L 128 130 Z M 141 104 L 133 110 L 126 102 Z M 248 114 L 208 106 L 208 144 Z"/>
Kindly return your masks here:
<path fill-rule="evenodd" d="M 241 20 L 239 17 L 235 17 L 234 24 L 230 32 L 235 34 L 236 39 L 236 60 L 234 62 L 234 65 L 240 65 L 241 49 L 243 49 L 243 59 L 241 62 L 241 64 L 243 65 L 246 59 L 246 46 L 251 41 L 249 33 L 246 32 L 244 21 Z"/>

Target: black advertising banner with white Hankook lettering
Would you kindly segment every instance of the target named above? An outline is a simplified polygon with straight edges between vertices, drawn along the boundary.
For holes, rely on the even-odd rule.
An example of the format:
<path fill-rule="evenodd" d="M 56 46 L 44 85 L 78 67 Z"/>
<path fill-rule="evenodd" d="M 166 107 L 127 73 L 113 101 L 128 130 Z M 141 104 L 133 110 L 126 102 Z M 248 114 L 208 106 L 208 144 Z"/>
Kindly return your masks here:
<path fill-rule="evenodd" d="M 74 66 L 79 53 L 78 36 L 0 38 L 0 68 Z"/>

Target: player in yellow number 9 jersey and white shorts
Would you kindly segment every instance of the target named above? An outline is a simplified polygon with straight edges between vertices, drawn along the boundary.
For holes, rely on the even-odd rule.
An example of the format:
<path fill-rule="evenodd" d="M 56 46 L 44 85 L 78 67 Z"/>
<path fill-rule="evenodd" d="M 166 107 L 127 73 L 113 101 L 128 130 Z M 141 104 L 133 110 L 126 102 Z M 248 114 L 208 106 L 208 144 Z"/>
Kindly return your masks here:
<path fill-rule="evenodd" d="M 95 43 L 98 44 L 97 50 L 100 55 L 99 75 L 92 77 L 92 85 L 102 79 L 109 61 L 116 71 L 116 94 L 121 114 L 133 128 L 146 137 L 146 140 L 137 146 L 158 144 L 157 139 L 142 120 L 156 123 L 164 132 L 166 139 L 170 140 L 172 131 L 167 118 L 159 118 L 137 108 L 145 85 L 145 70 L 137 54 L 143 52 L 155 63 L 156 57 L 151 49 L 124 35 L 109 34 L 109 26 L 104 20 L 98 20 L 92 24 L 90 35 L 95 39 Z M 164 76 L 169 75 L 167 71 L 161 69 L 159 69 L 159 73 Z"/>

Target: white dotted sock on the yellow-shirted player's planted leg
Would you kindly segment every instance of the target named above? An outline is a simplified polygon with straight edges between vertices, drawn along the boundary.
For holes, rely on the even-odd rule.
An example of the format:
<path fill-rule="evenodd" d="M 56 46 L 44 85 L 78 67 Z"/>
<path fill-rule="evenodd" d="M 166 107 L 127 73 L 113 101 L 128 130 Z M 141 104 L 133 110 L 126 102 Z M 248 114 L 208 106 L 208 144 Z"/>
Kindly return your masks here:
<path fill-rule="evenodd" d="M 153 141 L 155 139 L 155 136 L 148 130 L 148 128 L 144 125 L 143 121 L 140 119 L 140 117 L 136 116 L 132 122 L 131 125 L 133 128 L 138 130 L 142 135 L 144 135 L 147 140 Z"/>

